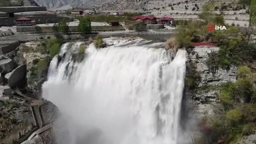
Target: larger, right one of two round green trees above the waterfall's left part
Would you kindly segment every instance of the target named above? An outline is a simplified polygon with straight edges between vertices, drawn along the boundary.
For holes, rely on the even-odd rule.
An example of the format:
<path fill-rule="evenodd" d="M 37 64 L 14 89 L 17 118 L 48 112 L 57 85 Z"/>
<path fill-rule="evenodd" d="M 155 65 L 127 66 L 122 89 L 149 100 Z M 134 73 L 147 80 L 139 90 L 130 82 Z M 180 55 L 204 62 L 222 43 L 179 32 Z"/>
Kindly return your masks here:
<path fill-rule="evenodd" d="M 78 31 L 81 32 L 81 35 L 83 37 L 86 37 L 86 34 L 92 31 L 91 21 L 89 18 L 83 17 L 80 19 L 80 22 L 78 24 Z"/>

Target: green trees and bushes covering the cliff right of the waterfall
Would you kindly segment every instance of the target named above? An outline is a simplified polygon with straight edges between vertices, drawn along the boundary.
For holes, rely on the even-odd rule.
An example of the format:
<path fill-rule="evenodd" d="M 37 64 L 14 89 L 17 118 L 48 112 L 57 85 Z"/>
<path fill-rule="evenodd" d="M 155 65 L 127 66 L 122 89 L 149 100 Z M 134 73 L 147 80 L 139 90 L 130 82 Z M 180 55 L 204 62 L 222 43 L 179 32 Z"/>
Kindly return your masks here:
<path fill-rule="evenodd" d="M 219 69 L 229 70 L 238 66 L 236 82 L 224 82 L 218 86 L 201 86 L 200 75 L 195 63 L 188 59 L 186 71 L 186 89 L 190 92 L 199 90 L 218 90 L 220 99 L 217 115 L 206 116 L 200 122 L 202 136 L 193 138 L 193 144 L 235 144 L 238 138 L 248 136 L 255 130 L 256 123 L 256 44 L 249 43 L 246 34 L 238 33 L 236 26 L 229 26 L 226 31 L 206 29 L 210 22 L 224 24 L 222 16 L 213 14 L 212 3 L 203 6 L 197 21 L 178 21 L 178 33 L 174 35 L 180 47 L 186 47 L 188 54 L 193 54 L 190 42 L 217 42 L 218 52 L 208 54 L 205 64 L 211 72 Z M 254 56 L 255 55 L 255 56 Z M 196 56 L 199 58 L 199 56 Z M 188 68 L 189 66 L 189 68 Z M 200 143 L 201 142 L 201 143 Z"/>

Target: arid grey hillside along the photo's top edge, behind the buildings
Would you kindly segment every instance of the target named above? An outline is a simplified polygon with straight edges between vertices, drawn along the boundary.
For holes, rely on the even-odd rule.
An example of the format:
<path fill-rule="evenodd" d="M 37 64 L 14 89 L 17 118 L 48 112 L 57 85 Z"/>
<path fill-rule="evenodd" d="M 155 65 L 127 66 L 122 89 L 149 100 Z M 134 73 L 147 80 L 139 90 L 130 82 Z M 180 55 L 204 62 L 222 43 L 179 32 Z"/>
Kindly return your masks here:
<path fill-rule="evenodd" d="M 40 6 L 48 9 L 68 9 L 71 7 L 92 8 L 99 11 L 125 11 L 125 12 L 162 12 L 162 11 L 194 11 L 200 10 L 206 2 L 215 2 L 223 10 L 244 8 L 238 4 L 239 0 L 35 0 Z M 245 0 L 246 1 L 246 0 Z M 196 6 L 195 6 L 196 5 Z M 187 7 L 187 9 L 185 8 Z"/>

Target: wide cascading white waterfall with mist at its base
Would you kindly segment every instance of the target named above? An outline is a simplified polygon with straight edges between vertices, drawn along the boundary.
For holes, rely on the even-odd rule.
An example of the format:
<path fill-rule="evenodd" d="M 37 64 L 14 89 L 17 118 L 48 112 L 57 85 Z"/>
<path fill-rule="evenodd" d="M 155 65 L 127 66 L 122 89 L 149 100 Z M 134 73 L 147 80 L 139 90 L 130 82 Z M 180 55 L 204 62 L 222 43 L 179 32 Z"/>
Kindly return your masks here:
<path fill-rule="evenodd" d="M 177 144 L 186 70 L 186 51 L 170 64 L 163 43 L 105 39 L 90 44 L 82 62 L 73 62 L 62 45 L 43 84 L 43 97 L 61 117 L 55 122 L 59 144 Z M 151 44 L 150 44 L 151 43 Z M 140 45 L 140 46 L 138 46 Z"/>

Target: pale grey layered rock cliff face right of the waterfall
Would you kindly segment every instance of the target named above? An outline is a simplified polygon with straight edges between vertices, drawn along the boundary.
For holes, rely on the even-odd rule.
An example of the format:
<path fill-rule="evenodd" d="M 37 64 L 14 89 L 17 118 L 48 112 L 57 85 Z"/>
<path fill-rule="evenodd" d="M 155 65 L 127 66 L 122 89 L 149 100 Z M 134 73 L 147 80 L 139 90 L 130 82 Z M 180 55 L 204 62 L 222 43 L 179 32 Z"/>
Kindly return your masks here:
<path fill-rule="evenodd" d="M 187 95 L 192 98 L 196 106 L 196 111 L 199 114 L 213 114 L 214 105 L 218 104 L 218 93 L 220 92 L 218 86 L 222 82 L 236 81 L 236 67 L 230 70 L 210 70 L 205 61 L 207 60 L 208 53 L 218 51 L 218 47 L 195 47 L 188 55 L 191 61 L 195 64 L 196 73 L 200 76 L 198 90 L 188 91 Z M 192 63 L 188 63 L 192 64 Z"/>

